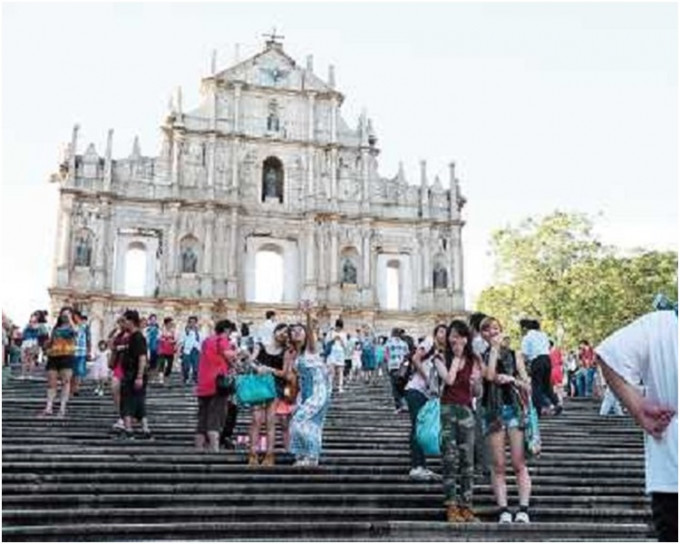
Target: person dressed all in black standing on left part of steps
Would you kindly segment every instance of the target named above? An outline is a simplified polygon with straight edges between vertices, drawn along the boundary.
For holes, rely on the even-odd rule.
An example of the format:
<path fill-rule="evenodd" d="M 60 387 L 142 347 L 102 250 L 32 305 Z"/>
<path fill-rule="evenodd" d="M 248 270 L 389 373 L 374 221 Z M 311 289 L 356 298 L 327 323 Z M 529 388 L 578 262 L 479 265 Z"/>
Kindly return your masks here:
<path fill-rule="evenodd" d="M 134 418 L 141 422 L 144 437 L 150 438 L 151 431 L 146 418 L 146 338 L 140 330 L 137 311 L 128 310 L 123 317 L 124 327 L 130 333 L 130 340 L 123 355 L 123 379 L 120 384 L 120 412 L 125 422 L 125 436 L 133 437 L 132 419 Z"/>

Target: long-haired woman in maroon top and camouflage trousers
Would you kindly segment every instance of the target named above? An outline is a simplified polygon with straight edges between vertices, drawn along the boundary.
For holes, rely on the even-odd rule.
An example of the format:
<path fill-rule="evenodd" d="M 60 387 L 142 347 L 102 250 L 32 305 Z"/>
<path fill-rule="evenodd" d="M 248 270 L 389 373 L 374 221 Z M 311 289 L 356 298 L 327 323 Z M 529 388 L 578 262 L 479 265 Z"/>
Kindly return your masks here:
<path fill-rule="evenodd" d="M 481 388 L 482 367 L 472 347 L 467 323 L 451 321 L 446 330 L 446 353 L 433 362 L 444 383 L 441 394 L 442 478 L 449 522 L 479 521 L 472 511 L 475 416 L 472 399 Z M 456 486 L 458 482 L 458 486 Z"/>

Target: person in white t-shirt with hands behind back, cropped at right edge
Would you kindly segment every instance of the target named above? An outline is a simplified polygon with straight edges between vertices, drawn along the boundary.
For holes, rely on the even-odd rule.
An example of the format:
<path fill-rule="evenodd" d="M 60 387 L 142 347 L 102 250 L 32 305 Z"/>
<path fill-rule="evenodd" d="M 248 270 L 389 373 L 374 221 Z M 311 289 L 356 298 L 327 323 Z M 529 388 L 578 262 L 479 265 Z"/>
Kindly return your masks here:
<path fill-rule="evenodd" d="M 664 310 L 618 330 L 595 350 L 605 380 L 645 431 L 646 492 L 659 541 L 678 540 L 678 317 Z M 642 382 L 643 396 L 635 387 Z"/>

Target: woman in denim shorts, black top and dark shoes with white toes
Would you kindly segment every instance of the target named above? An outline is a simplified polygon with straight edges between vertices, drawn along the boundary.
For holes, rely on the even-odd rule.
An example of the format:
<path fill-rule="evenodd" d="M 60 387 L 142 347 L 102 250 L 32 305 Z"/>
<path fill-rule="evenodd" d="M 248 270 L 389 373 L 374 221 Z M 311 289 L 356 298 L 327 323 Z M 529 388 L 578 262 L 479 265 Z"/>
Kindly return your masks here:
<path fill-rule="evenodd" d="M 503 328 L 494 317 L 482 321 L 481 334 L 488 344 L 482 354 L 484 394 L 482 396 L 484 434 L 491 457 L 491 484 L 499 522 L 512 523 L 508 510 L 508 489 L 505 480 L 505 437 L 510 442 L 510 458 L 517 478 L 519 490 L 519 512 L 515 521 L 529 522 L 529 498 L 531 478 L 524 454 L 524 418 L 519 388 L 527 396 L 531 394 L 531 381 L 524 366 L 524 359 L 518 352 L 513 357 L 503 346 Z"/>

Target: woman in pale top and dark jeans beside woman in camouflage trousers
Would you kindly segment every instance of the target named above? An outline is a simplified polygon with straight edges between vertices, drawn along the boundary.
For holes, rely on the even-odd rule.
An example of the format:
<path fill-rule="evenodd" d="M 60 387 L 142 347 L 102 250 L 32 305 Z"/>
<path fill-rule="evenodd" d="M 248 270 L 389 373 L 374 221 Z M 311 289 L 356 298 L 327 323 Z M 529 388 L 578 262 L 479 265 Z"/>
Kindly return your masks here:
<path fill-rule="evenodd" d="M 425 453 L 416 438 L 418 413 L 428 400 L 439 397 L 439 377 L 434 366 L 434 358 L 446 351 L 446 325 L 434 328 L 431 338 L 426 338 L 413 355 L 411 378 L 404 388 L 404 398 L 411 416 L 409 445 L 411 452 L 411 471 L 414 480 L 431 480 L 439 476 L 426 466 Z"/>

